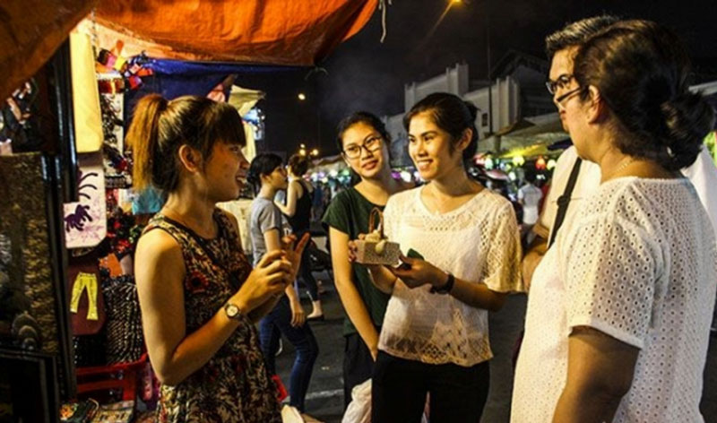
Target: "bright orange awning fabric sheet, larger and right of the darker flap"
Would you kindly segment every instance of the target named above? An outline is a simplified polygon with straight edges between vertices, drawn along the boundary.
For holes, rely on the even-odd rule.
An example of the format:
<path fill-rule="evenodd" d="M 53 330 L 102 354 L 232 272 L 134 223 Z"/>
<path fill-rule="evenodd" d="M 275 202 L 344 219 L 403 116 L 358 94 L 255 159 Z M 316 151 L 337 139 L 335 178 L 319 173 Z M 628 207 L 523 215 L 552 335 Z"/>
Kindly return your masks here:
<path fill-rule="evenodd" d="M 144 46 L 151 56 L 315 65 L 363 28 L 377 4 L 378 0 L 113 0 L 98 4 L 97 22 L 154 43 Z"/>

